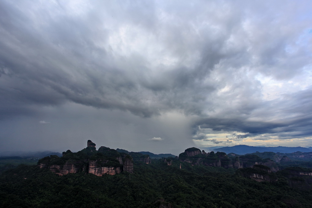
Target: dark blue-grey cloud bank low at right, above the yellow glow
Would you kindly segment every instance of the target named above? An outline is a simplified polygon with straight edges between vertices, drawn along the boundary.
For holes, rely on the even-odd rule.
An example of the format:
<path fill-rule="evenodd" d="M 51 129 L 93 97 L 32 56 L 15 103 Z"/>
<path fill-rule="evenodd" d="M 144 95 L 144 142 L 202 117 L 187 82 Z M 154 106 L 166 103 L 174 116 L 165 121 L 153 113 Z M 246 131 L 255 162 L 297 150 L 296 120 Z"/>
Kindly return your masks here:
<path fill-rule="evenodd" d="M 280 139 L 300 138 L 312 134 L 312 94 L 311 88 L 285 95 L 284 99 L 267 101 L 250 114 L 233 114 L 225 118 L 205 118 L 194 124 L 193 134 L 200 128 L 211 128 L 214 131 L 244 132 L 235 138 L 253 137 L 259 134 L 273 134 Z M 275 117 L 275 118 L 274 118 Z M 251 121 L 250 118 L 257 118 Z M 274 118 L 274 119 L 273 119 Z M 262 136 L 262 140 L 265 137 Z M 269 137 L 267 137 L 269 139 Z"/>

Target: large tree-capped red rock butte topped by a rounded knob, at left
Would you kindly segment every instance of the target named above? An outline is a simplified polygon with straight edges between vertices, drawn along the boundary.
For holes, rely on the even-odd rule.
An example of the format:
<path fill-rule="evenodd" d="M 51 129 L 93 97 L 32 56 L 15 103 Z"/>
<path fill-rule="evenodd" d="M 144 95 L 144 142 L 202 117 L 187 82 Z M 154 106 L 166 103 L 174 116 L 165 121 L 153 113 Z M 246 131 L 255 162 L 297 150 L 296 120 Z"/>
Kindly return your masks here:
<path fill-rule="evenodd" d="M 133 172 L 132 157 L 126 153 L 122 155 L 114 149 L 100 147 L 95 149 L 95 143 L 87 142 L 87 148 L 79 152 L 67 150 L 62 157 L 51 155 L 38 161 L 40 168 L 49 168 L 52 172 L 62 176 L 68 173 L 86 172 L 102 176 L 115 175 L 122 172 Z M 150 160 L 149 158 L 147 158 Z"/>

